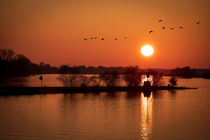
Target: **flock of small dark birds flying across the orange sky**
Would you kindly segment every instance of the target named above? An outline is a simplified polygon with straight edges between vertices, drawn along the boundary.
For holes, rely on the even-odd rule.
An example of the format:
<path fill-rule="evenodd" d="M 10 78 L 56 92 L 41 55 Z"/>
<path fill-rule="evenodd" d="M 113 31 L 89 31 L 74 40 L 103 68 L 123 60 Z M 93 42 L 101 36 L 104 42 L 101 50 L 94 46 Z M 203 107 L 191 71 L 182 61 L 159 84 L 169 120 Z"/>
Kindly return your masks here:
<path fill-rule="evenodd" d="M 162 19 L 159 19 L 158 22 L 163 22 L 163 20 Z M 196 24 L 200 24 L 200 21 L 197 21 Z M 166 26 L 162 26 L 161 29 L 162 30 L 165 30 L 165 29 L 167 29 L 167 27 Z M 170 29 L 170 30 L 174 30 L 174 29 L 182 30 L 182 29 L 184 29 L 184 27 L 183 26 L 179 26 L 177 28 L 175 28 L 175 27 L 169 27 L 168 29 Z M 154 30 L 149 30 L 149 34 L 152 34 L 152 33 L 154 33 Z M 84 40 L 97 40 L 97 39 L 104 40 L 103 37 L 102 38 L 98 38 L 98 37 L 84 38 Z M 128 38 L 127 37 L 124 37 L 123 39 L 128 39 Z M 114 38 L 114 40 L 118 40 L 118 38 Z"/>

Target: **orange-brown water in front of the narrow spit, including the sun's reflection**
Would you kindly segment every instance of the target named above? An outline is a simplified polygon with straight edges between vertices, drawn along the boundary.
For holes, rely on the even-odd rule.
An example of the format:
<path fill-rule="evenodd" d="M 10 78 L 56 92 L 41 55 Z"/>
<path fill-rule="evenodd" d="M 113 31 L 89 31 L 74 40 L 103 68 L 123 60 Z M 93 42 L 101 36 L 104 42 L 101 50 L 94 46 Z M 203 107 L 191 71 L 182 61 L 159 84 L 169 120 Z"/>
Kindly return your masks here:
<path fill-rule="evenodd" d="M 0 97 L 0 140 L 207 140 L 210 80 L 197 90 Z"/>

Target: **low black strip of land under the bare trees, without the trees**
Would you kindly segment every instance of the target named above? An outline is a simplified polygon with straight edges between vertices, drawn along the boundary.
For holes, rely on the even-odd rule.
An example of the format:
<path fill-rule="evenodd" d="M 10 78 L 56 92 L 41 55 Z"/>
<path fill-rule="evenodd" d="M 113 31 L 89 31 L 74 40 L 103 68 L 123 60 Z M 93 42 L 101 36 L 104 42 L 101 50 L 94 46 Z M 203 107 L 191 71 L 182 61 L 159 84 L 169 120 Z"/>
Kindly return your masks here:
<path fill-rule="evenodd" d="M 0 87 L 0 95 L 31 95 L 49 93 L 98 93 L 98 92 L 117 92 L 117 91 L 139 91 L 150 92 L 155 90 L 186 90 L 197 89 L 188 87 L 152 86 L 150 88 L 138 87 Z"/>

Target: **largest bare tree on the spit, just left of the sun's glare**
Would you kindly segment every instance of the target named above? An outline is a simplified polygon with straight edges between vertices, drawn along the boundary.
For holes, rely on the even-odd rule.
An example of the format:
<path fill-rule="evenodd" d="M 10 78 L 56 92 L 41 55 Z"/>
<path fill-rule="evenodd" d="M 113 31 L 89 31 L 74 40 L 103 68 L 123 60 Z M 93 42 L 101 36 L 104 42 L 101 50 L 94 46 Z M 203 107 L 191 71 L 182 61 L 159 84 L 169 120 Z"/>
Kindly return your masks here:
<path fill-rule="evenodd" d="M 128 67 L 123 75 L 123 78 L 129 87 L 139 86 L 142 80 L 140 69 L 136 67 Z"/>

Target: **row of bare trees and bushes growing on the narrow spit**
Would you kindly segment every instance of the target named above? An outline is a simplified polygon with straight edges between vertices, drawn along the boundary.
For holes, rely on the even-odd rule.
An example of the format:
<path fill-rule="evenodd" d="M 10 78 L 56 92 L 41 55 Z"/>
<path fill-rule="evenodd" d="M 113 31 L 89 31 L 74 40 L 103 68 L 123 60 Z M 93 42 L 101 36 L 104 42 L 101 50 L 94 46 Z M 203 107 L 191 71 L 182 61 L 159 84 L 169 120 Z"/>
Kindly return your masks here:
<path fill-rule="evenodd" d="M 60 80 L 65 87 L 116 87 L 121 86 L 122 81 L 127 87 L 138 87 L 143 85 L 143 76 L 150 79 L 153 86 L 164 85 L 163 75 L 156 71 L 148 71 L 145 75 L 138 66 L 126 67 L 122 72 L 117 69 L 110 69 L 98 75 L 84 75 L 80 74 L 78 69 L 71 69 L 66 74 L 60 74 Z M 172 76 L 169 80 L 168 86 L 176 86 L 177 78 Z"/>

